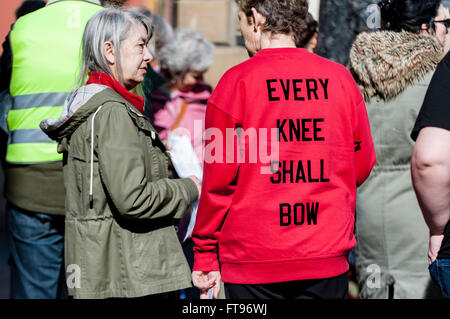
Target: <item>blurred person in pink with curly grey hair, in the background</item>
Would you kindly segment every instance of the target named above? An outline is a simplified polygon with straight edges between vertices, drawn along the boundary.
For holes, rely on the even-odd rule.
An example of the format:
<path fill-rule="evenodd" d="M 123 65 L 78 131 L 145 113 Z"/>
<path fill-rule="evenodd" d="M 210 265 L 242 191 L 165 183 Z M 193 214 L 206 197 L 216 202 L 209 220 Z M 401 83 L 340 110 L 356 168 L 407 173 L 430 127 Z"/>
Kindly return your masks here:
<path fill-rule="evenodd" d="M 165 88 L 170 92 L 170 97 L 167 98 L 160 90 L 155 92 L 152 99 L 157 110 L 153 115 L 155 127 L 165 140 L 169 131 L 186 135 L 201 167 L 206 104 L 212 91 L 204 83 L 203 74 L 213 63 L 213 44 L 198 31 L 178 29 L 173 41 L 162 47 L 159 57 L 160 72 L 167 79 Z M 194 223 L 193 212 L 186 214 L 178 224 L 178 235 L 191 267 L 194 264 L 194 243 L 191 238 Z M 195 288 L 186 293 L 188 299 L 200 297 Z"/>

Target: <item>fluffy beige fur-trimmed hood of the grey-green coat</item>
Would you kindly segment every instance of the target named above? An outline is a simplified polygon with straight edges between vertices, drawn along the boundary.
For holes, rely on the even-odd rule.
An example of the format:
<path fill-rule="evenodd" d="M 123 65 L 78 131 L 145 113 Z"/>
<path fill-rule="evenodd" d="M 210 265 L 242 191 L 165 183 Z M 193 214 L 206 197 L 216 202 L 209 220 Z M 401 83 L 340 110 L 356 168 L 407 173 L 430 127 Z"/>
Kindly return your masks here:
<path fill-rule="evenodd" d="M 359 34 L 350 51 L 349 69 L 364 99 L 390 100 L 433 71 L 443 58 L 429 35 L 376 31 Z"/>

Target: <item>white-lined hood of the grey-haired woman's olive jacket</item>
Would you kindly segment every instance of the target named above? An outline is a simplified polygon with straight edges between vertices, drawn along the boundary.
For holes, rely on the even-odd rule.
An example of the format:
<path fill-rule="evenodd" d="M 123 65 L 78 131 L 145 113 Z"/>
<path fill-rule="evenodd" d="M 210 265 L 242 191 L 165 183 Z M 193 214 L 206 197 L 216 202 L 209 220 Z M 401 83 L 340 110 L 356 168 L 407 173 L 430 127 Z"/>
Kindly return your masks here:
<path fill-rule="evenodd" d="M 75 90 L 64 102 L 63 112 L 59 119 L 45 119 L 40 128 L 53 140 L 61 141 L 72 134 L 86 119 L 96 111 L 99 103 L 87 103 L 95 99 L 97 93 L 108 89 L 105 85 L 89 84 Z"/>

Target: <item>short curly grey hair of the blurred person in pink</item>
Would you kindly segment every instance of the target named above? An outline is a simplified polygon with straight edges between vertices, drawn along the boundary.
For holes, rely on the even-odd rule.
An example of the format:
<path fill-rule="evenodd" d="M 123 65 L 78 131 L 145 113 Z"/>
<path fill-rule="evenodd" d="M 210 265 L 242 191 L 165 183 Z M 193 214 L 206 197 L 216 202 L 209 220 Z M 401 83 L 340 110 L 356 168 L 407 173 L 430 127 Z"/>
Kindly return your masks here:
<path fill-rule="evenodd" d="M 206 71 L 214 61 L 213 49 L 214 45 L 199 31 L 178 29 L 173 41 L 161 49 L 161 71 L 169 77 Z"/>

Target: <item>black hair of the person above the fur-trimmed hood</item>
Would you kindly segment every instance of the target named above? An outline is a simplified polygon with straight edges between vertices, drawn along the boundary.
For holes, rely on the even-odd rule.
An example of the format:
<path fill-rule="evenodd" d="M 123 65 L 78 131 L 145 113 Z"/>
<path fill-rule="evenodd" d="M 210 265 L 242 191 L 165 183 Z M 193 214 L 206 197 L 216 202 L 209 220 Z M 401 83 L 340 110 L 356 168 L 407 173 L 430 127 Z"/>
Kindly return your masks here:
<path fill-rule="evenodd" d="M 382 29 L 418 33 L 422 24 L 429 24 L 437 15 L 441 0 L 383 0 L 381 10 Z"/>

